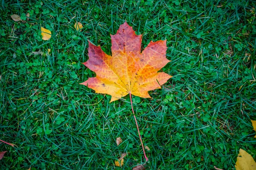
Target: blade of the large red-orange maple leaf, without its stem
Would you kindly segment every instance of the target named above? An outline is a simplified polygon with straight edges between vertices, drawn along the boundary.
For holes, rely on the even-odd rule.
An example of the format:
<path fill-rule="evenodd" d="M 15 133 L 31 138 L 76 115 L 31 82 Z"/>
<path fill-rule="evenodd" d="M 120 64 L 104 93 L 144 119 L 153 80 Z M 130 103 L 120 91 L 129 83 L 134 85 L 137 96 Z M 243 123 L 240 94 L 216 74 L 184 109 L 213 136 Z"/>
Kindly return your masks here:
<path fill-rule="evenodd" d="M 111 102 L 129 93 L 150 98 L 148 91 L 160 88 L 172 77 L 158 72 L 170 61 L 166 59 L 166 40 L 151 41 L 142 52 L 141 41 L 142 35 L 136 35 L 125 22 L 111 35 L 112 57 L 89 42 L 89 59 L 83 64 L 94 71 L 96 77 L 81 84 L 96 93 L 111 95 Z"/>

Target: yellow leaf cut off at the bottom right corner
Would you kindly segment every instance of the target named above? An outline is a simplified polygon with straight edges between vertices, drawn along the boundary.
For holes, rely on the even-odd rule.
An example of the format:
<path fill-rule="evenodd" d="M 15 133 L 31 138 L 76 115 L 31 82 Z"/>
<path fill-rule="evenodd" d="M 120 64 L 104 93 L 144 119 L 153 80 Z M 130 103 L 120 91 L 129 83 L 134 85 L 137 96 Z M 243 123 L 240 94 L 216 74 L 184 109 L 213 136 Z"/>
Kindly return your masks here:
<path fill-rule="evenodd" d="M 236 170 L 256 170 L 256 162 L 249 153 L 240 149 L 235 167 Z"/>

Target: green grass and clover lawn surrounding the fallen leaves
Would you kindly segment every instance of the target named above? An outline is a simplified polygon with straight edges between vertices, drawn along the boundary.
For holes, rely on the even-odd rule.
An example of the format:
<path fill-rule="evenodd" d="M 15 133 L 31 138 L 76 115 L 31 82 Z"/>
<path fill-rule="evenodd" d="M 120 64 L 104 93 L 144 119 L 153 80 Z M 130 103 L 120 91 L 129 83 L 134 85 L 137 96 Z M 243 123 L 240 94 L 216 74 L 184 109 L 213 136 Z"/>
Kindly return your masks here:
<path fill-rule="evenodd" d="M 119 4 L 119 5 L 118 5 Z M 167 39 L 162 71 L 173 75 L 152 99 L 133 96 L 152 170 L 232 169 L 239 149 L 256 158 L 256 11 L 253 1 L 1 1 L 0 169 L 132 169 L 145 159 L 129 96 L 79 83 L 95 74 L 90 40 L 111 54 L 125 20 L 142 48 Z M 30 13 L 29 21 L 24 14 Z M 15 22 L 10 15 L 23 16 Z M 81 22 L 81 32 L 74 28 Z M 52 31 L 41 40 L 40 28 Z M 47 54 L 47 49 L 51 51 Z M 33 54 L 42 51 L 44 54 Z M 116 138 L 123 142 L 116 146 Z M 114 161 L 127 152 L 122 168 Z"/>

